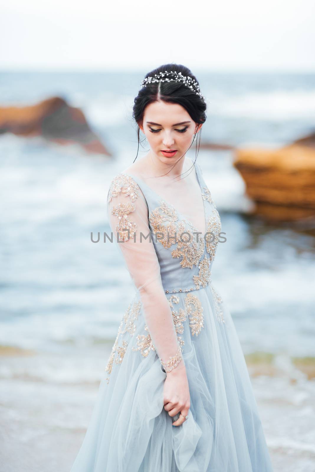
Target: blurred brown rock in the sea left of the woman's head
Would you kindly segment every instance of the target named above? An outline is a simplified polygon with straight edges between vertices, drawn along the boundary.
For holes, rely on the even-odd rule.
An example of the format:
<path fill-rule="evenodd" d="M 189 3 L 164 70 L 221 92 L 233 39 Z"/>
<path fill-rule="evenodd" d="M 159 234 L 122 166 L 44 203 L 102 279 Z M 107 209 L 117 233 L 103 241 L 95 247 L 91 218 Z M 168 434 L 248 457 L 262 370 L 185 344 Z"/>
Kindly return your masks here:
<path fill-rule="evenodd" d="M 60 97 L 26 107 L 0 107 L 0 133 L 42 136 L 59 144 L 80 144 L 87 152 L 111 155 L 91 130 L 83 112 Z"/>

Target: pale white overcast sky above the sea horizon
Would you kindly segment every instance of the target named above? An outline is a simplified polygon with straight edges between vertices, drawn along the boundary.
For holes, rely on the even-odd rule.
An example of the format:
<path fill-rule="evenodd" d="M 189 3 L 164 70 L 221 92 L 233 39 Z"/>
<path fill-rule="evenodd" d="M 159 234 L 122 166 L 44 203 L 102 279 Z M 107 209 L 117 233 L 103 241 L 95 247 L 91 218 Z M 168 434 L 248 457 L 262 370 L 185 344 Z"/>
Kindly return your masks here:
<path fill-rule="evenodd" d="M 0 68 L 315 71 L 314 0 L 10 0 Z"/>

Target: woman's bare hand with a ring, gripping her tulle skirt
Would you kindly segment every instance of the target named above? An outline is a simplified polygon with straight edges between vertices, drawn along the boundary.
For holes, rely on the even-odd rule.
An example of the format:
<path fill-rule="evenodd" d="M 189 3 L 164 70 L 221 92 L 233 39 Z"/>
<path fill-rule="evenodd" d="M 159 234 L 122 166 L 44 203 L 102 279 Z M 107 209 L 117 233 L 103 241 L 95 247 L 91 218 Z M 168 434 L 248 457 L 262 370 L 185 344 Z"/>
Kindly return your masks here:
<path fill-rule="evenodd" d="M 164 409 L 170 416 L 182 413 L 188 415 L 191 406 L 186 367 L 181 361 L 172 371 L 166 373 L 164 382 Z M 173 426 L 180 426 L 185 418 L 180 415 Z"/>

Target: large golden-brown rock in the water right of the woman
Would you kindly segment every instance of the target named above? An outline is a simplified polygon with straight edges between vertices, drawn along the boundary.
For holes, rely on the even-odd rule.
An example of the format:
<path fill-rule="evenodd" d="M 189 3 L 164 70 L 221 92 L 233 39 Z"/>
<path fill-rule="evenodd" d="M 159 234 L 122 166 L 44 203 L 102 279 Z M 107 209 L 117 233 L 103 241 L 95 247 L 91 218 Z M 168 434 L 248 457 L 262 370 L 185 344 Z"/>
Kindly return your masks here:
<path fill-rule="evenodd" d="M 256 202 L 256 213 L 274 220 L 315 216 L 313 145 L 307 137 L 279 149 L 236 150 L 233 165 Z"/>

